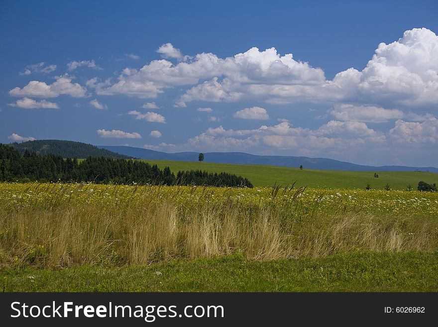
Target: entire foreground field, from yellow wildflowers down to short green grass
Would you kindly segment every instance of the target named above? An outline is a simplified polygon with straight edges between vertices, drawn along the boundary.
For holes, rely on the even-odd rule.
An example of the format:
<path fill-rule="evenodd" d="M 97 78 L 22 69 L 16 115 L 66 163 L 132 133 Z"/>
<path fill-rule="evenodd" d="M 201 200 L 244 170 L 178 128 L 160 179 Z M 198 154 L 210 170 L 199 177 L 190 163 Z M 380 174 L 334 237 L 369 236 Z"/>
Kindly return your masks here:
<path fill-rule="evenodd" d="M 4 291 L 437 291 L 437 253 L 437 193 L 0 183 Z"/>

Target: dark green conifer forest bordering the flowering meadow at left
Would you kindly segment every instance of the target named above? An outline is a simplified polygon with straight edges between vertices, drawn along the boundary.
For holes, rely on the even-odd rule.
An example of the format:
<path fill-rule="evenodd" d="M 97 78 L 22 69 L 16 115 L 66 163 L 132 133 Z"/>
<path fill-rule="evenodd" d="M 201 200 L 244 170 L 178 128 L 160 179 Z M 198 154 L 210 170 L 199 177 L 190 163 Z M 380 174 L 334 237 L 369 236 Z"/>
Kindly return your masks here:
<path fill-rule="evenodd" d="M 61 155 L 38 155 L 28 150 L 21 155 L 11 146 L 0 144 L 0 181 L 7 182 L 93 182 L 98 184 L 213 185 L 252 187 L 241 176 L 201 170 L 179 171 L 132 159 L 88 157 L 85 160 Z"/>

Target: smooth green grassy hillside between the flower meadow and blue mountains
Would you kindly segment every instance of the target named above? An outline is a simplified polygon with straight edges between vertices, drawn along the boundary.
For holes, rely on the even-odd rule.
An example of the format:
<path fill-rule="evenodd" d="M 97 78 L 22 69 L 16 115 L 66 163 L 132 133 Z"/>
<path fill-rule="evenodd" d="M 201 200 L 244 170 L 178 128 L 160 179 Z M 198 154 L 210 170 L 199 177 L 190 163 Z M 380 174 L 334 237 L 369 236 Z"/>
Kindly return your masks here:
<path fill-rule="evenodd" d="M 242 176 L 254 186 L 272 186 L 292 184 L 296 186 L 308 186 L 312 188 L 346 188 L 364 189 L 367 184 L 372 189 L 383 190 L 388 183 L 391 189 L 404 190 L 410 184 L 417 189 L 418 182 L 424 181 L 429 184 L 438 183 L 438 174 L 429 172 L 378 172 L 379 178 L 374 177 L 374 172 L 361 171 L 334 171 L 334 170 L 303 170 L 299 168 L 261 166 L 261 165 L 233 165 L 206 162 L 145 160 L 151 164 L 157 164 L 159 168 L 169 166 L 171 171 L 202 169 L 209 172 L 227 172 Z"/>

